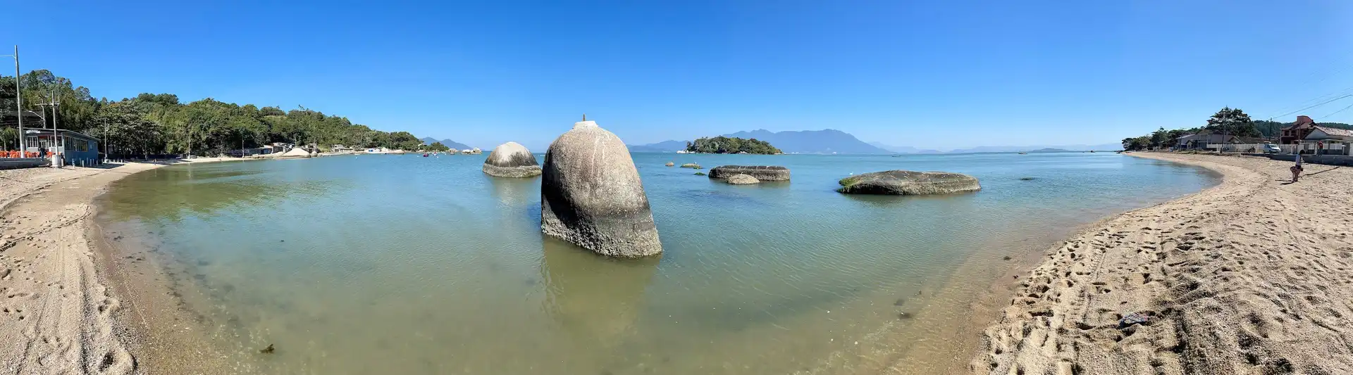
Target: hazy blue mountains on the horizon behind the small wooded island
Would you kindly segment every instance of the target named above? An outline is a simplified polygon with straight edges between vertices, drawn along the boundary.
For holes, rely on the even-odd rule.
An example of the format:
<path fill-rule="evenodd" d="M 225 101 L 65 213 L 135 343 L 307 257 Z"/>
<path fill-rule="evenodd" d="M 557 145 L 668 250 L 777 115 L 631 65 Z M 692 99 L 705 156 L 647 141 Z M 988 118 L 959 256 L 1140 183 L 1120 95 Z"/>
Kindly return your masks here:
<path fill-rule="evenodd" d="M 1063 151 L 1118 151 L 1120 143 L 1104 144 L 1055 144 L 1055 146 L 981 146 L 950 151 L 916 148 L 912 146 L 890 146 L 879 142 L 865 143 L 838 129 L 782 131 L 767 129 L 740 131 L 724 136 L 759 139 L 770 142 L 785 154 L 978 154 L 978 152 L 1063 152 Z M 444 142 L 445 143 L 445 142 Z M 632 144 L 630 152 L 676 152 L 686 150 L 685 140 L 664 140 L 649 144 Z"/>

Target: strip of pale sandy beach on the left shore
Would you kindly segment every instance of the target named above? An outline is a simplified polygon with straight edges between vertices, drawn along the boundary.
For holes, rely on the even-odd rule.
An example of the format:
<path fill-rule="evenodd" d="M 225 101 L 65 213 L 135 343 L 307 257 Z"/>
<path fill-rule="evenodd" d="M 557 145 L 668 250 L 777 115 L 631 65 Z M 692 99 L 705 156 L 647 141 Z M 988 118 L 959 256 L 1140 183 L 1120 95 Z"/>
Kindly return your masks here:
<path fill-rule="evenodd" d="M 0 372 L 130 374 L 87 229 L 112 181 L 157 165 L 0 171 Z"/>

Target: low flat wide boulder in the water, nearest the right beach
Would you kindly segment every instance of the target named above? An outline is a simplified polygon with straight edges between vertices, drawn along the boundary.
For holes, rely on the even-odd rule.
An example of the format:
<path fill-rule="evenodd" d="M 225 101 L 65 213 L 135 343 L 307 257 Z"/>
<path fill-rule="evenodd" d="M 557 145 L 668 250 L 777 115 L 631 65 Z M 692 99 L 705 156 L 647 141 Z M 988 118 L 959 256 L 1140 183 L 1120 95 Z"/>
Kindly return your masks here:
<path fill-rule="evenodd" d="M 842 178 L 847 194 L 921 196 L 977 192 L 977 178 L 958 173 L 889 170 Z"/>

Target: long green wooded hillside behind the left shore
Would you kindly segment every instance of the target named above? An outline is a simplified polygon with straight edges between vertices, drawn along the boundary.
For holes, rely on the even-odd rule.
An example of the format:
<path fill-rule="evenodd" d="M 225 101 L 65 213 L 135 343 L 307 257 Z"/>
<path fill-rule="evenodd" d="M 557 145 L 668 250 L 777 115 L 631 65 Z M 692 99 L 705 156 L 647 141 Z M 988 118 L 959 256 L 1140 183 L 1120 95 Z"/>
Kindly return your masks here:
<path fill-rule="evenodd" d="M 272 142 L 330 144 L 349 147 L 388 147 L 417 150 L 422 140 L 409 132 L 384 132 L 346 117 L 325 115 L 298 107 L 283 111 L 279 107 L 238 105 L 214 98 L 181 103 L 170 93 L 142 93 L 137 97 L 108 100 L 95 98 L 89 89 L 76 86 L 70 80 L 49 70 L 32 70 L 20 77 L 23 109 L 43 113 L 41 123 L 24 128 L 51 127 L 78 131 L 107 139 L 116 154 L 157 155 L 216 155 L 241 147 L 260 147 Z M 3 146 L 15 147 L 18 140 L 15 108 L 15 80 L 0 76 L 0 113 L 5 113 L 0 127 Z M 53 116 L 50 107 L 58 101 Z M 8 112 L 4 112 L 8 109 Z"/>

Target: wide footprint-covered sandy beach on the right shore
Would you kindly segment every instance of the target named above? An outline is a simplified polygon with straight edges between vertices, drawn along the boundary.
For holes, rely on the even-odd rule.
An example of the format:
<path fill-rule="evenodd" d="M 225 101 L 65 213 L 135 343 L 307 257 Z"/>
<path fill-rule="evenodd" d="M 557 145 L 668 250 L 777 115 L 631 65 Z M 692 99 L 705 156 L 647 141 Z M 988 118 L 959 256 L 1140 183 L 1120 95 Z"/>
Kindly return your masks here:
<path fill-rule="evenodd" d="M 969 368 L 977 374 L 1348 374 L 1353 169 L 1134 154 L 1220 185 L 1054 247 Z M 1119 326 L 1128 313 L 1143 324 Z"/>

